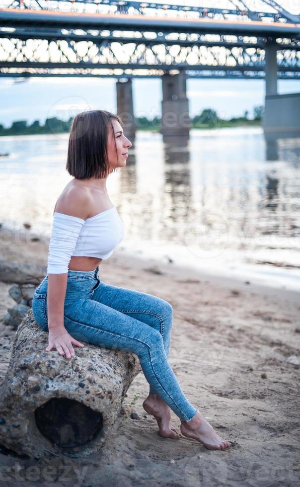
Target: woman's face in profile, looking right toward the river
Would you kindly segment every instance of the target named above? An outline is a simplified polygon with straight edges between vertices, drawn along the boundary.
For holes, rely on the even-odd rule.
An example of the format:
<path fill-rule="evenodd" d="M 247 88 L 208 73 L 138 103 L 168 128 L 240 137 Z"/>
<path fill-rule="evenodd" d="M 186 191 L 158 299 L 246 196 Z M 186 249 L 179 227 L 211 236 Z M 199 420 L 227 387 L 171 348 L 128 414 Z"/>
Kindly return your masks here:
<path fill-rule="evenodd" d="M 107 141 L 107 157 L 110 169 L 113 170 L 116 167 L 123 167 L 126 165 L 128 158 L 128 149 L 132 146 L 130 140 L 128 140 L 123 134 L 123 130 L 119 122 L 115 119 L 112 120 L 113 132 L 110 128 L 108 141 Z M 114 140 L 116 142 L 116 148 Z"/>

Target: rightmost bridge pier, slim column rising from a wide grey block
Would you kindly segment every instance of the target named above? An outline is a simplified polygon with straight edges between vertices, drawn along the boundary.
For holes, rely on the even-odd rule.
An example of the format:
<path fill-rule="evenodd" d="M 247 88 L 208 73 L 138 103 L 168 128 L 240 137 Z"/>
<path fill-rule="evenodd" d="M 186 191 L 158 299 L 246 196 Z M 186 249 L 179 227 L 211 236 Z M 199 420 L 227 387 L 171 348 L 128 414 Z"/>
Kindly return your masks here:
<path fill-rule="evenodd" d="M 277 49 L 265 46 L 266 95 L 263 130 L 267 137 L 300 136 L 300 93 L 277 93 Z"/>

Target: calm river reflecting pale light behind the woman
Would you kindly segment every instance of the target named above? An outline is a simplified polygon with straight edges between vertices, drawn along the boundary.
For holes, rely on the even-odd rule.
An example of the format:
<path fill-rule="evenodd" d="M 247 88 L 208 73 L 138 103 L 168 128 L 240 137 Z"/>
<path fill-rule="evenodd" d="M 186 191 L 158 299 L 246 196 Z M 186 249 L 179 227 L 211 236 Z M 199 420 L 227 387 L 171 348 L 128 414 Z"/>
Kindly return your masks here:
<path fill-rule="evenodd" d="M 0 158 L 2 232 L 30 224 L 28 235 L 49 239 L 72 179 L 68 138 L 0 137 L 0 153 L 10 154 Z M 127 252 L 300 289 L 300 138 L 267 146 L 260 127 L 192 129 L 188 145 L 172 151 L 160 134 L 138 131 L 107 189 Z"/>

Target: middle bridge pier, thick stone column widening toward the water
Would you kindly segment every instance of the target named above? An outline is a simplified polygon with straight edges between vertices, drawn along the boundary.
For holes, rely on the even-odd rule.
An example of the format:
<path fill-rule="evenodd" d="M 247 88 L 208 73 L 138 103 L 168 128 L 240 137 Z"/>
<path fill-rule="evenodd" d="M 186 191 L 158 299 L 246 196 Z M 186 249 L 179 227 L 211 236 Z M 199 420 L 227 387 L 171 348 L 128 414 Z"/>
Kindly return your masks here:
<path fill-rule="evenodd" d="M 191 121 L 189 100 L 186 96 L 186 75 L 179 73 L 161 77 L 161 133 L 165 137 L 189 138 Z"/>

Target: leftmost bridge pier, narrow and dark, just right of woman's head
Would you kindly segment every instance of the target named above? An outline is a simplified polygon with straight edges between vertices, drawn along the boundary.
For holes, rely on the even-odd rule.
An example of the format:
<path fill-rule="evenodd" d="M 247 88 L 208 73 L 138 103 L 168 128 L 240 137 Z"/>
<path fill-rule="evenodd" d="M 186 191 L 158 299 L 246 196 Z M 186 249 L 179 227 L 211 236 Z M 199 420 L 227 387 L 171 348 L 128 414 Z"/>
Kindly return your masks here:
<path fill-rule="evenodd" d="M 136 136 L 136 119 L 133 109 L 132 82 L 117 81 L 117 114 L 123 121 L 124 134 L 134 144 Z"/>

